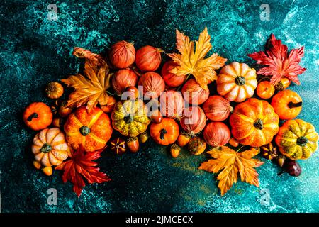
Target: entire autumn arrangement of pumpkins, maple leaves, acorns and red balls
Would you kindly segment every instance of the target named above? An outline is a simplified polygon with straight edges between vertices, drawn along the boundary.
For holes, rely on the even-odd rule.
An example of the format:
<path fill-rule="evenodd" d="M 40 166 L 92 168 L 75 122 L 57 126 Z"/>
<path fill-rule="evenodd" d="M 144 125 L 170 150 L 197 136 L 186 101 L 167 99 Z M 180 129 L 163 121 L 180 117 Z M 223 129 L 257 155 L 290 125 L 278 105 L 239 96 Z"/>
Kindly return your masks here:
<path fill-rule="evenodd" d="M 317 150 L 315 128 L 296 116 L 301 97 L 287 87 L 300 84 L 303 48 L 288 53 L 272 35 L 267 48 L 248 55 L 261 65 L 258 72 L 245 63 L 210 56 L 207 28 L 197 41 L 177 30 L 177 52 L 162 63 L 164 50 L 150 45 L 135 50 L 119 41 L 107 56 L 74 48 L 84 60 L 83 72 L 62 79 L 72 88 L 50 82 L 45 88 L 54 104 L 34 102 L 23 112 L 26 126 L 38 131 L 31 150 L 33 165 L 45 175 L 62 171 L 80 196 L 86 182 L 108 182 L 97 162 L 102 152 L 136 153 L 148 138 L 167 146 L 173 158 L 181 147 L 211 159 L 200 170 L 218 174 L 225 194 L 238 181 L 259 187 L 256 155 L 274 160 L 283 172 L 297 177 L 303 160 Z M 219 72 L 216 72 L 219 70 Z M 217 92 L 212 92 L 217 91 Z M 279 120 L 285 121 L 279 126 Z M 282 172 L 281 172 L 282 173 Z"/>

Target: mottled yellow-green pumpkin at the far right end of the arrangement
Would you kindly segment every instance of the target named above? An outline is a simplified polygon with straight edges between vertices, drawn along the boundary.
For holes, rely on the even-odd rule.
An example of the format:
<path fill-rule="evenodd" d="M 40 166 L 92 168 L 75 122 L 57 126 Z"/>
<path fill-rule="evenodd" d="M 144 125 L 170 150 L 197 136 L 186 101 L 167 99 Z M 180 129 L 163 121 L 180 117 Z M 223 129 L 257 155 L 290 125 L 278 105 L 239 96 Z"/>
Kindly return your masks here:
<path fill-rule="evenodd" d="M 301 119 L 286 121 L 275 138 L 279 152 L 292 160 L 307 159 L 318 148 L 318 133 Z"/>

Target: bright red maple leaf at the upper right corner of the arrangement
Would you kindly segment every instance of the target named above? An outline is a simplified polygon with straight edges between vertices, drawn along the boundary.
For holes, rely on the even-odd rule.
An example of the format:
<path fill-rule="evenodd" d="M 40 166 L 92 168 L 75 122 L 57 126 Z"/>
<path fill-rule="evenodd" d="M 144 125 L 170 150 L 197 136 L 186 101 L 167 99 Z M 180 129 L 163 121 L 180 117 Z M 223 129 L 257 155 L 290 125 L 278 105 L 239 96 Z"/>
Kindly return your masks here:
<path fill-rule="evenodd" d="M 303 47 L 292 49 L 288 55 L 288 48 L 281 43 L 281 40 L 276 40 L 274 34 L 270 38 L 270 48 L 265 52 L 254 52 L 249 54 L 253 60 L 256 60 L 262 67 L 258 74 L 271 76 L 270 82 L 277 84 L 281 77 L 287 77 L 296 84 L 300 84 L 298 74 L 302 74 L 306 69 L 301 67 L 299 62 L 303 57 Z"/>

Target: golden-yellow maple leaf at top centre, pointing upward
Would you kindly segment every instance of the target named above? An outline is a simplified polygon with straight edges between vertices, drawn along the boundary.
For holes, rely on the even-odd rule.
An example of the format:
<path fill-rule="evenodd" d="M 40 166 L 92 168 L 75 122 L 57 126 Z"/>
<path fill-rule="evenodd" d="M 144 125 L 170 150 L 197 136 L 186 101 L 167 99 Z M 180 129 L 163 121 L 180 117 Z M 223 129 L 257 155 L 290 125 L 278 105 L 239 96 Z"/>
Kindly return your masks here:
<path fill-rule="evenodd" d="M 217 54 L 204 58 L 212 48 L 211 36 L 208 35 L 207 28 L 201 32 L 198 41 L 195 41 L 195 51 L 194 41 L 189 40 L 188 36 L 176 30 L 176 38 L 176 47 L 179 54 L 172 53 L 168 55 L 179 66 L 174 67 L 170 72 L 177 76 L 192 74 L 196 82 L 198 82 L 203 89 L 207 89 L 208 82 L 217 79 L 214 70 L 223 67 L 227 59 Z"/>

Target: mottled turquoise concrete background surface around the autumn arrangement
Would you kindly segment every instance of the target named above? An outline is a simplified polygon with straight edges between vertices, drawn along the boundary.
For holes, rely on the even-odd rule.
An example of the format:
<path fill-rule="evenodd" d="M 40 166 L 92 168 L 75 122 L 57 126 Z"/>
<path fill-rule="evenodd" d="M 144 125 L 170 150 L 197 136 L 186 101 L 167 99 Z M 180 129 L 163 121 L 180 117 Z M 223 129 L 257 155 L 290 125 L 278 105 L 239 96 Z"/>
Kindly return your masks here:
<path fill-rule="evenodd" d="M 80 2 L 80 1 L 79 1 Z M 34 169 L 30 143 L 34 131 L 22 121 L 23 109 L 45 98 L 45 85 L 74 74 L 74 46 L 105 52 L 117 40 L 154 45 L 172 52 L 175 28 L 192 40 L 205 26 L 213 52 L 228 62 L 246 62 L 274 33 L 291 48 L 305 45 L 301 86 L 291 86 L 304 101 L 298 118 L 318 122 L 318 1 L 1 1 L 1 212 L 318 212 L 319 153 L 300 162 L 300 177 L 277 176 L 270 161 L 259 167 L 260 188 L 238 182 L 221 197 L 214 175 L 197 170 L 205 155 L 182 150 L 172 159 L 152 141 L 137 153 L 102 153 L 99 165 L 112 179 L 85 187 L 82 196 L 63 184 L 60 172 L 45 177 Z M 47 6 L 57 6 L 57 20 Z M 270 21 L 262 21 L 269 4 Z M 57 189 L 57 206 L 47 204 L 47 189 Z M 266 194 L 265 194 L 266 192 Z M 268 192 L 268 193 L 267 193 Z M 262 202 L 267 199 L 269 202 Z"/>

